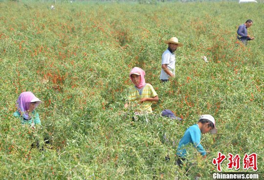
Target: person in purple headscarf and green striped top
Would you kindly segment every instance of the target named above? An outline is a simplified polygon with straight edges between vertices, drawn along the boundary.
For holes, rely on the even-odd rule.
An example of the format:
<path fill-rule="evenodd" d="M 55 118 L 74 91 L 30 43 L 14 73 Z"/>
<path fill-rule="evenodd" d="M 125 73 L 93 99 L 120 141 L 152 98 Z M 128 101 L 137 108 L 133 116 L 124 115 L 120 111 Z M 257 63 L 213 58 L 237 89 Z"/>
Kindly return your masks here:
<path fill-rule="evenodd" d="M 42 101 L 32 92 L 22 92 L 17 100 L 18 109 L 13 115 L 19 117 L 22 124 L 41 125 L 39 113 L 35 110 L 40 103 Z"/>

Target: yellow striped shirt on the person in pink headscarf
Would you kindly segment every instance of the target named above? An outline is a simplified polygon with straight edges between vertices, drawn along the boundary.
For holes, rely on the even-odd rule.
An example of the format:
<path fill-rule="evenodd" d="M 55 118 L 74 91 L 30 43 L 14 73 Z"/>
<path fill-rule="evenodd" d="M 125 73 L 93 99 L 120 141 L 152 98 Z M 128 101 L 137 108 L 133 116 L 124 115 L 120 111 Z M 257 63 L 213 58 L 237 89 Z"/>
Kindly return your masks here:
<path fill-rule="evenodd" d="M 128 100 L 129 101 L 136 101 L 138 104 L 140 104 L 139 109 L 136 111 L 138 111 L 138 112 L 152 112 L 152 109 L 151 109 L 152 102 L 151 101 L 145 101 L 143 103 L 140 103 L 140 100 L 142 98 L 151 98 L 151 97 L 155 97 L 155 96 L 157 96 L 156 91 L 154 90 L 154 88 L 152 87 L 151 84 L 147 83 L 146 86 L 144 87 L 144 89 L 142 90 L 141 95 L 139 95 L 139 92 L 135 87 L 130 88 Z"/>

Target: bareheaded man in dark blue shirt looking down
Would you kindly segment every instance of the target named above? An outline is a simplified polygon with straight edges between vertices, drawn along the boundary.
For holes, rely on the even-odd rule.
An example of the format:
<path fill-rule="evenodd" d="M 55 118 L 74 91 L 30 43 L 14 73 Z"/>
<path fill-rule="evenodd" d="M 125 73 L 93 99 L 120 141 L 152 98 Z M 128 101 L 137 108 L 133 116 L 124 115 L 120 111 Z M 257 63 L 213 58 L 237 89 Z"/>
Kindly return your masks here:
<path fill-rule="evenodd" d="M 240 40 L 244 45 L 247 44 L 247 41 L 254 40 L 254 37 L 250 37 L 247 34 L 247 28 L 253 24 L 252 20 L 246 20 L 245 23 L 241 24 L 238 28 L 238 40 Z"/>

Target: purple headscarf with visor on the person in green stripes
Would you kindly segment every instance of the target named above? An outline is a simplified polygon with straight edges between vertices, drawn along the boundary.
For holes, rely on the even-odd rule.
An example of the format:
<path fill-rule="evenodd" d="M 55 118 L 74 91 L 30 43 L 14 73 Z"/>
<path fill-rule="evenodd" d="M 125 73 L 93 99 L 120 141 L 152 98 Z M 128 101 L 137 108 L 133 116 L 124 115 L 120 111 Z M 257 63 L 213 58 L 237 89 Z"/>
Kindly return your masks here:
<path fill-rule="evenodd" d="M 41 103 L 41 101 L 32 92 L 22 92 L 17 100 L 18 111 L 22 114 L 23 118 L 28 119 L 28 110 L 30 103 L 37 102 L 36 107 Z"/>

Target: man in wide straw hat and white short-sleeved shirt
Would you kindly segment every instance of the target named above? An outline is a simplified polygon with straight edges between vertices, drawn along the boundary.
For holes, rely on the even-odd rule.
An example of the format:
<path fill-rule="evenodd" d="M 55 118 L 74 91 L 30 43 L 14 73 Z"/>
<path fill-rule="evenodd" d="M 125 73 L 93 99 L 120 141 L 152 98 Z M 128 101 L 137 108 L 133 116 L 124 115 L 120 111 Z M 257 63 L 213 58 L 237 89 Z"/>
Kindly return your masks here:
<path fill-rule="evenodd" d="M 159 79 L 162 82 L 167 82 L 170 77 L 175 76 L 175 51 L 177 47 L 183 46 L 178 42 L 176 37 L 172 37 L 168 41 L 164 41 L 168 45 L 168 48 L 162 54 L 161 61 L 161 73 Z"/>

